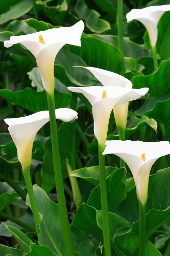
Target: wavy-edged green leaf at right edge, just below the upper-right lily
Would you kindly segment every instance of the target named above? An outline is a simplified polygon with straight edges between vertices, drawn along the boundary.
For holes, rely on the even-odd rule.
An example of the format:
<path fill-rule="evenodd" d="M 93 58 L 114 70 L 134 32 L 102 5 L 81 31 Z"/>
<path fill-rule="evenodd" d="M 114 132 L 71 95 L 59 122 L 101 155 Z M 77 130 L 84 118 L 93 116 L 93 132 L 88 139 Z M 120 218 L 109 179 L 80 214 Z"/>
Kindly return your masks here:
<path fill-rule="evenodd" d="M 139 89 L 143 87 L 149 87 L 149 93 L 152 96 L 161 96 L 167 90 L 169 90 L 169 63 L 170 60 L 164 60 L 161 62 L 158 70 L 147 76 L 139 75 L 132 78 L 133 88 Z"/>

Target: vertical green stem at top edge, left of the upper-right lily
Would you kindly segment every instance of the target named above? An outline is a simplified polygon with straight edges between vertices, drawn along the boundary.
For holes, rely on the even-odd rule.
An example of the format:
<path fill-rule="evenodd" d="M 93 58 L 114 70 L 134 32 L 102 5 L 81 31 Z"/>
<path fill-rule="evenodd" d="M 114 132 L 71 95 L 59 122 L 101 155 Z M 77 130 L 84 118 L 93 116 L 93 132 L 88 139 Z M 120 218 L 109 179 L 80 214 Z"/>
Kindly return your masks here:
<path fill-rule="evenodd" d="M 118 49 L 124 54 L 124 36 L 123 36 L 123 0 L 118 0 L 117 6 L 118 23 Z"/>

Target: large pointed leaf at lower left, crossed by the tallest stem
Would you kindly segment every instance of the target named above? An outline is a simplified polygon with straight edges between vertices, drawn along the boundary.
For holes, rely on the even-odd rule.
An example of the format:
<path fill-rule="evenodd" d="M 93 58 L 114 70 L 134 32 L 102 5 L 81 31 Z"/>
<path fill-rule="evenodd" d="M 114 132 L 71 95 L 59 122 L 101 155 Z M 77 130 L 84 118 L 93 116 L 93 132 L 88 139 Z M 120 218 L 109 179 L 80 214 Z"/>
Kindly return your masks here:
<path fill-rule="evenodd" d="M 37 206 L 42 215 L 40 234 L 38 236 L 39 245 L 46 245 L 55 255 L 64 255 L 58 204 L 51 201 L 42 188 L 36 185 L 33 188 Z M 27 199 L 27 204 L 30 204 L 29 199 Z M 87 236 L 74 227 L 71 227 L 71 233 L 75 251 L 82 256 L 95 255 L 95 248 Z M 84 250 L 85 244 L 87 245 L 87 250 Z"/>

